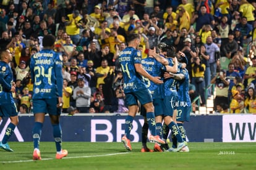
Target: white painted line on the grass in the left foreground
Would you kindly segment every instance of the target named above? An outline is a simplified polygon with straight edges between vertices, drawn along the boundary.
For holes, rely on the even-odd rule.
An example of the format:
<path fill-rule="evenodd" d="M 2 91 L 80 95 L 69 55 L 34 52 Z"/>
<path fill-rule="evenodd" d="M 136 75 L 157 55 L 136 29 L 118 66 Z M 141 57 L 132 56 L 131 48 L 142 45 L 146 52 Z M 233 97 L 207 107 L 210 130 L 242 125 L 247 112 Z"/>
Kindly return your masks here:
<path fill-rule="evenodd" d="M 62 158 L 63 160 L 65 159 L 75 159 L 75 158 L 93 158 L 93 157 L 101 157 L 101 156 L 113 156 L 113 155 L 122 155 L 122 154 L 127 154 L 129 152 L 124 152 L 124 153 L 111 153 L 111 154 L 106 154 L 106 155 L 90 155 L 90 156 L 74 156 L 74 157 L 65 157 Z M 48 161 L 48 160 L 54 160 L 53 158 L 44 158 L 41 159 L 40 161 Z M 34 160 L 20 160 L 20 161 L 3 161 L 1 163 L 27 163 L 27 162 L 33 162 Z"/>

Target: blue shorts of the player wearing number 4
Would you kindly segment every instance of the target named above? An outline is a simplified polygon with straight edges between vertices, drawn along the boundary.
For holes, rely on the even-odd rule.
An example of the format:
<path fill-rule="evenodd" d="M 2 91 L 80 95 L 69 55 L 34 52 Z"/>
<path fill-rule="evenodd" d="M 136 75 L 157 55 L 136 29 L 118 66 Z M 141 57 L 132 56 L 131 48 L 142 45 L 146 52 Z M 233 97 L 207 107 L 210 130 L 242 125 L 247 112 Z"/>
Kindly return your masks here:
<path fill-rule="evenodd" d="M 141 105 L 153 102 L 152 96 L 148 89 L 142 89 L 137 92 L 126 93 L 126 104 L 127 106 L 138 105 L 138 100 Z"/>

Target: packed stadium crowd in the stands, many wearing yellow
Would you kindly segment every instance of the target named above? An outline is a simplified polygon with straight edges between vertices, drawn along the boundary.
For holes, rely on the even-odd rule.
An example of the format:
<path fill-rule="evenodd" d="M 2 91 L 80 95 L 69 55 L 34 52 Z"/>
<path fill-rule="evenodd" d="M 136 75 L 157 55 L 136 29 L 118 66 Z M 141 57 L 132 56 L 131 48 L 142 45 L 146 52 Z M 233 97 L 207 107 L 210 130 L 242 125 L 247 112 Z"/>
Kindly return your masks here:
<path fill-rule="evenodd" d="M 216 112 L 255 113 L 255 8 L 246 0 L 4 0 L 0 48 L 14 57 L 20 113 L 33 113 L 28 66 L 46 34 L 63 59 L 64 113 L 126 113 L 117 58 L 130 33 L 140 34 L 143 59 L 160 42 L 186 54 L 192 100 L 200 95 L 205 106 L 205 88 L 216 84 Z"/>

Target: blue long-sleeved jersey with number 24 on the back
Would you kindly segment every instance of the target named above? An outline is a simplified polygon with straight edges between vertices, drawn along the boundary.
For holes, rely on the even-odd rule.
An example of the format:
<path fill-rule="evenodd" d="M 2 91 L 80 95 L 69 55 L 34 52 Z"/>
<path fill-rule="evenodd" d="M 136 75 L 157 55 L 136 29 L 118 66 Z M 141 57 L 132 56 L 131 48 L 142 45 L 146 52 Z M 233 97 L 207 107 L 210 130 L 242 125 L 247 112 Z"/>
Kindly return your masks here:
<path fill-rule="evenodd" d="M 50 49 L 34 54 L 30 61 L 33 99 L 62 97 L 62 55 Z"/>

